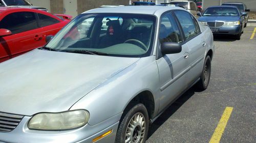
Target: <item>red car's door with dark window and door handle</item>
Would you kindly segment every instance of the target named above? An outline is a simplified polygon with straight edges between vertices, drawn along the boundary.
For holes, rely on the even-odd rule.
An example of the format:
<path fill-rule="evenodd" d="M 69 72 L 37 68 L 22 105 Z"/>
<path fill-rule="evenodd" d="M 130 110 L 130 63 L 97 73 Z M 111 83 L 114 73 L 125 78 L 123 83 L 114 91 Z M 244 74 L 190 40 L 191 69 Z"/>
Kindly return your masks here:
<path fill-rule="evenodd" d="M 0 61 L 2 62 L 45 44 L 38 28 L 36 13 L 8 13 L 0 21 L 0 28 L 12 32 L 12 35 L 0 38 Z"/>

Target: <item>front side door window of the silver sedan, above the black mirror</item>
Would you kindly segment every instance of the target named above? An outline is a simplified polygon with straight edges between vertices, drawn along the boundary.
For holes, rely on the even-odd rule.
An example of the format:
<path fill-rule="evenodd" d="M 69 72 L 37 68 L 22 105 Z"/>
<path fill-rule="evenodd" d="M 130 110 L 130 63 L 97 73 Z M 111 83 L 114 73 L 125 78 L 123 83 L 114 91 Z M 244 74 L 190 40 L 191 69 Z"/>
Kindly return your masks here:
<path fill-rule="evenodd" d="M 182 41 L 177 23 L 175 22 L 174 17 L 169 13 L 163 15 L 161 18 L 159 40 L 161 44 L 164 42 L 179 43 Z"/>

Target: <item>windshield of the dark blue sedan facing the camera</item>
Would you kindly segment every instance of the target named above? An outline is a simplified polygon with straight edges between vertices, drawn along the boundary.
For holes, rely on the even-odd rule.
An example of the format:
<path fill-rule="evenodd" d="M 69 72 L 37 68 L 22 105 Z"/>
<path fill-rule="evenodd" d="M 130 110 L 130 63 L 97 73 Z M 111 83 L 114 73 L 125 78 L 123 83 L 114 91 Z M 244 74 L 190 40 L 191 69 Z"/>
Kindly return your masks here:
<path fill-rule="evenodd" d="M 236 8 L 228 7 L 215 7 L 208 8 L 203 13 L 203 16 L 238 16 L 238 10 Z"/>

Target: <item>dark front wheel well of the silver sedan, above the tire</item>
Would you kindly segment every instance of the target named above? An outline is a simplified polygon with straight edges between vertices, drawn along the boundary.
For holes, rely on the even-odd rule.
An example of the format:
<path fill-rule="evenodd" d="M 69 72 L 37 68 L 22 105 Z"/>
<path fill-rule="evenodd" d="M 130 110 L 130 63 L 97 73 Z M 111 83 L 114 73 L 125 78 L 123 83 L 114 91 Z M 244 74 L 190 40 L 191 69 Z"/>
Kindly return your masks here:
<path fill-rule="evenodd" d="M 139 103 L 142 103 L 145 105 L 147 109 L 148 117 L 152 119 L 155 111 L 155 100 L 154 100 L 153 94 L 150 91 L 143 91 L 139 93 L 136 97 L 134 97 L 129 102 L 129 104 L 125 107 L 124 113 L 128 112 L 133 106 Z"/>

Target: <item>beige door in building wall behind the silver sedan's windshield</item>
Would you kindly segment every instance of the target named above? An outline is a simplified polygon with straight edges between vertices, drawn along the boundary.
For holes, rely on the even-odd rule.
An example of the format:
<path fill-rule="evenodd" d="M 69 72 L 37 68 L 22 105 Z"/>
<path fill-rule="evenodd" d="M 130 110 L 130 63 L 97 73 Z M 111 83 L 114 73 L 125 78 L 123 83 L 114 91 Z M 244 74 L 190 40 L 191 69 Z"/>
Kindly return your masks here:
<path fill-rule="evenodd" d="M 64 0 L 64 14 L 77 16 L 77 0 Z"/>

